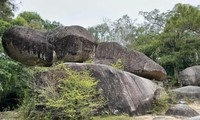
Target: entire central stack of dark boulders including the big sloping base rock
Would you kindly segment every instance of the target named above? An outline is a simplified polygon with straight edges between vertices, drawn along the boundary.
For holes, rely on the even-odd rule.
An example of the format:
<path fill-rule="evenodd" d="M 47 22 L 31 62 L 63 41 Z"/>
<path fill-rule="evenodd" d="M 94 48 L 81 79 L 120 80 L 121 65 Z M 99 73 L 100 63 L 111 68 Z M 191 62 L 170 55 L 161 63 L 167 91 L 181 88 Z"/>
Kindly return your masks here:
<path fill-rule="evenodd" d="M 110 108 L 129 115 L 144 114 L 151 109 L 157 85 L 149 79 L 166 78 L 166 71 L 143 53 L 128 51 L 118 43 L 97 45 L 81 26 L 58 27 L 48 32 L 14 26 L 3 34 L 2 44 L 8 56 L 26 65 L 76 62 L 66 65 L 73 70 L 90 70 L 99 80 L 97 86 L 103 89 Z M 94 64 L 77 63 L 90 57 Z M 108 66 L 118 59 L 124 71 Z M 52 74 L 42 73 L 38 80 L 51 80 L 48 76 Z"/>

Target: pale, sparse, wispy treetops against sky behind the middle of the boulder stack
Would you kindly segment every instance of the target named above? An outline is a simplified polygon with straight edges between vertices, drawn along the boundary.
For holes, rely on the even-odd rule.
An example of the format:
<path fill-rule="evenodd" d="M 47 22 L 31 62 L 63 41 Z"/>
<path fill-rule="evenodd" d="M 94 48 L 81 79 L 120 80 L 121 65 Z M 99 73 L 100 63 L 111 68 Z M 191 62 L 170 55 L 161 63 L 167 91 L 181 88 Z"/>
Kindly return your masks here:
<path fill-rule="evenodd" d="M 99 40 L 99 42 L 118 42 L 126 46 L 135 36 L 135 21 L 128 15 L 124 15 L 112 22 L 104 21 L 103 24 L 90 27 L 88 30 Z"/>

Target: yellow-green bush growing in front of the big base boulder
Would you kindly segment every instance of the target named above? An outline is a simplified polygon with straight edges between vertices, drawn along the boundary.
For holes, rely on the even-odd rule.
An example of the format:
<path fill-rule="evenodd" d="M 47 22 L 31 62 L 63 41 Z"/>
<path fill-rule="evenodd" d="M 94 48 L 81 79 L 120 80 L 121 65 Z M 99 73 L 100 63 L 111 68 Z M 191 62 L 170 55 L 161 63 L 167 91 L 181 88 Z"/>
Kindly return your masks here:
<path fill-rule="evenodd" d="M 53 118 L 89 119 L 92 112 L 103 105 L 101 91 L 96 88 L 97 80 L 92 78 L 88 71 L 72 71 L 64 64 L 54 68 L 53 71 L 67 76 L 53 78 L 58 81 L 56 86 L 47 83 L 46 87 L 39 90 L 36 99 L 36 105 L 45 106 Z"/>

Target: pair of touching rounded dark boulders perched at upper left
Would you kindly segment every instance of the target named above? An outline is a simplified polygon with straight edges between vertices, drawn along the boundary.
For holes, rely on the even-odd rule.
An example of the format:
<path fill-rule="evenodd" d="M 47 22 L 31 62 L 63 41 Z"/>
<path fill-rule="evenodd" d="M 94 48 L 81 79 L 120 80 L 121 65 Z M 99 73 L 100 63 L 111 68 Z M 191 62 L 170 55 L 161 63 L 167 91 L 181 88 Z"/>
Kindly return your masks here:
<path fill-rule="evenodd" d="M 94 42 L 94 37 L 80 26 L 58 27 L 46 33 L 14 26 L 2 38 L 8 56 L 26 65 L 39 66 L 50 66 L 57 60 L 85 61 L 95 50 Z"/>

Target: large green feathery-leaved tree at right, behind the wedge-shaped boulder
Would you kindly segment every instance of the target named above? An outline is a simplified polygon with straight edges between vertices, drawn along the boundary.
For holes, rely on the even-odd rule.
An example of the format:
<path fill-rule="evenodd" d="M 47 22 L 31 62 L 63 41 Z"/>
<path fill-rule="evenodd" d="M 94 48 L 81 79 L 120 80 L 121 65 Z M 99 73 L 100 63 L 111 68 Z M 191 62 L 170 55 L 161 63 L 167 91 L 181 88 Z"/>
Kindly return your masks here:
<path fill-rule="evenodd" d="M 156 13 L 156 17 L 151 13 L 143 15 L 153 26 L 150 27 L 153 32 L 144 34 L 149 39 L 139 39 L 135 47 L 164 66 L 168 75 L 178 82 L 180 70 L 200 63 L 200 10 L 188 4 L 177 4 L 167 13 Z M 158 18 L 164 18 L 161 25 Z"/>

